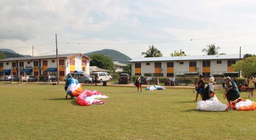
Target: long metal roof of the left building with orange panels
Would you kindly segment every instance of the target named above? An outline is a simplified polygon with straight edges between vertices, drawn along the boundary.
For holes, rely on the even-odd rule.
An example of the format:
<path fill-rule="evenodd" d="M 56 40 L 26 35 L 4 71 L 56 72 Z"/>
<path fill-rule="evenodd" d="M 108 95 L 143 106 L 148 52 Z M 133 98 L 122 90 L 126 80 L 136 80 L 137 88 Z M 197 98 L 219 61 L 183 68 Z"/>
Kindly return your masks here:
<path fill-rule="evenodd" d="M 63 57 L 71 57 L 73 55 L 83 55 L 89 59 L 90 57 L 82 54 L 82 53 L 70 53 L 70 54 L 58 54 L 58 58 L 63 58 Z M 43 55 L 43 56 L 31 56 L 31 57 L 15 57 L 15 58 L 7 58 L 7 59 L 2 59 L 0 62 L 3 61 L 21 61 L 21 60 L 35 60 L 35 59 L 49 59 L 49 58 L 56 58 L 56 55 Z"/>

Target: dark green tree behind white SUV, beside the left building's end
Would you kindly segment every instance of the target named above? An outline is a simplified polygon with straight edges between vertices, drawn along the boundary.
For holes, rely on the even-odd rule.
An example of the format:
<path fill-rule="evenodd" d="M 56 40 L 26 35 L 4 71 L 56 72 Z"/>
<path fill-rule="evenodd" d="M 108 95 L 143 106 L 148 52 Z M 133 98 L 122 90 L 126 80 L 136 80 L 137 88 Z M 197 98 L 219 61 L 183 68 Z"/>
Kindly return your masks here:
<path fill-rule="evenodd" d="M 103 54 L 92 54 L 90 55 L 91 62 L 90 66 L 97 66 L 101 69 L 114 70 L 114 64 L 109 56 Z"/>

